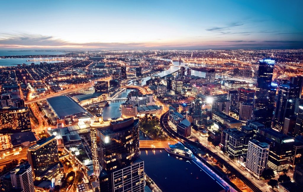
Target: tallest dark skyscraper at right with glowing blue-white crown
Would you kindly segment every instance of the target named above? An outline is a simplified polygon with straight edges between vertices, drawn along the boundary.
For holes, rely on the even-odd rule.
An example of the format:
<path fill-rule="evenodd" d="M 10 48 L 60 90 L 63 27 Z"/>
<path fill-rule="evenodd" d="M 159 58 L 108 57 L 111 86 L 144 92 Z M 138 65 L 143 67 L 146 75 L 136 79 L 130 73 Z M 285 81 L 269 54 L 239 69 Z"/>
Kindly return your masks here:
<path fill-rule="evenodd" d="M 258 78 L 254 100 L 254 119 L 271 127 L 271 120 L 274 110 L 274 100 L 270 99 L 273 95 L 271 91 L 272 74 L 274 71 L 275 60 L 263 59 L 259 62 Z"/>

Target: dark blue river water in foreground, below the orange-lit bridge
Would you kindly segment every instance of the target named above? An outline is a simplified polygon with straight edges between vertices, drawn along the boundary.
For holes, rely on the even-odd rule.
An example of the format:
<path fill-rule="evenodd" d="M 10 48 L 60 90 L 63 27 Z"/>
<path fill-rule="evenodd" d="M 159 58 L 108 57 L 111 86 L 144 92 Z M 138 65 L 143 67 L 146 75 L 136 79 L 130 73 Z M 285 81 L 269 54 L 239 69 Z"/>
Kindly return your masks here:
<path fill-rule="evenodd" d="M 223 190 L 221 185 L 193 162 L 168 156 L 165 150 L 141 150 L 140 153 L 145 173 L 165 192 Z"/>

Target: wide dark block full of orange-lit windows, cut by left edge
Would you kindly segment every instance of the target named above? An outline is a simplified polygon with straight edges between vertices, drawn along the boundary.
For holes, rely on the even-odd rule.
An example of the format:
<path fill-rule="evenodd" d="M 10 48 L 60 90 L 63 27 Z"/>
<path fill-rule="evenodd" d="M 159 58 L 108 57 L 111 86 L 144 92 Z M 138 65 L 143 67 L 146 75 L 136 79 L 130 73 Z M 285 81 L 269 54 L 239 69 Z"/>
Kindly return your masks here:
<path fill-rule="evenodd" d="M 0 108 L 0 131 L 9 134 L 32 131 L 28 108 Z"/>

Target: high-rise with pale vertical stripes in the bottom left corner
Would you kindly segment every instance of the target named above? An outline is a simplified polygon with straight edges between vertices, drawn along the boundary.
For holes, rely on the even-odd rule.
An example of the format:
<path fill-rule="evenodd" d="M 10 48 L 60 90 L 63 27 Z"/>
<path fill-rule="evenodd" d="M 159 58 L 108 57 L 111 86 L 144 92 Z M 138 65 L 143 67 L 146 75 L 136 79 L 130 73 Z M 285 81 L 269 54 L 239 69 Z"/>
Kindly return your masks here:
<path fill-rule="evenodd" d="M 28 162 L 18 165 L 2 177 L 4 191 L 34 192 L 32 167 Z"/>

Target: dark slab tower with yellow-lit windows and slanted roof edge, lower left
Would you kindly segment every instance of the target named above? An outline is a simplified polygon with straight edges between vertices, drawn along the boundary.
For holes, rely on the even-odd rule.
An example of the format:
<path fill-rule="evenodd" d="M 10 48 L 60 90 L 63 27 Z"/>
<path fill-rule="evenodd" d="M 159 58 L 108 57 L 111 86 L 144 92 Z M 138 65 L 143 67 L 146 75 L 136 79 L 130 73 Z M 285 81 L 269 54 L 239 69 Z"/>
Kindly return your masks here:
<path fill-rule="evenodd" d="M 33 177 L 52 179 L 59 174 L 57 139 L 54 135 L 40 139 L 27 150 L 27 159 L 32 166 Z"/>

